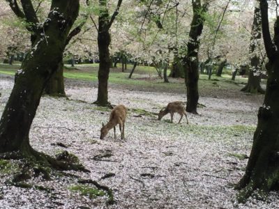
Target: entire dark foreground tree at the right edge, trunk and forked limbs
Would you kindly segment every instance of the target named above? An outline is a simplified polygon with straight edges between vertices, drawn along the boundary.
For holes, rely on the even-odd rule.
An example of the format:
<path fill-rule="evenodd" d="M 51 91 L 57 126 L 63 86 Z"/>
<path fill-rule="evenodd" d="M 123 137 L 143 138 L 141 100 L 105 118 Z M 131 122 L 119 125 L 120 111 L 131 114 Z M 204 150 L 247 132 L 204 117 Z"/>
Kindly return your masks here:
<path fill-rule="evenodd" d="M 269 31 L 268 3 L 260 0 L 262 34 L 269 62 L 266 65 L 268 78 L 264 104 L 259 107 L 258 123 L 252 150 L 237 189 L 240 202 L 250 195 L 266 194 L 279 186 L 279 17 L 274 26 L 274 38 Z"/>

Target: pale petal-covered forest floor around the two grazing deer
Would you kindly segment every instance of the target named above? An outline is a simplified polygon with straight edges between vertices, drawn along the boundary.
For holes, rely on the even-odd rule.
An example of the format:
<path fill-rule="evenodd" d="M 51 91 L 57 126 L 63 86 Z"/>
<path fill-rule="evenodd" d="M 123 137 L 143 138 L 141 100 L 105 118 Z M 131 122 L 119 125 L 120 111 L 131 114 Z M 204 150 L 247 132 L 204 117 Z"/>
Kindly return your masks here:
<path fill-rule="evenodd" d="M 215 83 L 213 88 L 200 88 L 199 115 L 188 114 L 189 124 L 183 118 L 179 125 L 179 115 L 169 123 L 169 115 L 158 121 L 156 113 L 168 102 L 186 101 L 185 86 L 171 92 L 110 84 L 110 102 L 129 109 L 126 139 L 120 139 L 117 128 L 117 139 L 111 130 L 100 140 L 110 109 L 92 104 L 96 82 L 66 79 L 69 100 L 41 99 L 31 146 L 52 156 L 67 150 L 91 173 L 54 172 L 51 180 L 27 180 L 37 187 L 26 189 L 6 184 L 15 171 L 0 164 L 0 208 L 278 208 L 277 192 L 266 201 L 250 198 L 238 204 L 235 199 L 234 184 L 246 168 L 263 95 L 242 93 L 239 85 L 220 89 Z M 1 75 L 0 114 L 12 88 L 13 77 Z M 110 187 L 115 203 L 107 205 L 107 195 L 90 196 L 87 190 L 93 185 L 84 189 L 76 176 Z"/>

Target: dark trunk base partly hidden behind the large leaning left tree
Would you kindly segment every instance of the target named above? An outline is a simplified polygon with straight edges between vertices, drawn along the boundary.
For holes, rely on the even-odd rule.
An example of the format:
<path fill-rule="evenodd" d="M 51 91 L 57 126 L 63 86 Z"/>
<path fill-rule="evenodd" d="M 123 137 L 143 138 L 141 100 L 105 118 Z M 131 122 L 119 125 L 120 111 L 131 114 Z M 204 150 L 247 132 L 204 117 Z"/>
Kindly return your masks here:
<path fill-rule="evenodd" d="M 63 77 L 63 61 L 58 64 L 58 68 L 54 75 L 50 78 L 45 86 L 45 94 L 65 97 L 64 77 Z"/>

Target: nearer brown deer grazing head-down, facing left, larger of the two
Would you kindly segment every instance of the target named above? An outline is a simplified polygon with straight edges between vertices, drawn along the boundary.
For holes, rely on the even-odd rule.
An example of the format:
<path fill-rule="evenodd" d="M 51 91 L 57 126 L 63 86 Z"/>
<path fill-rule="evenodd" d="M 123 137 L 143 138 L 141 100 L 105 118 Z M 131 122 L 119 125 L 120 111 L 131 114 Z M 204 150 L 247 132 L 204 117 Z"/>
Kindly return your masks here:
<path fill-rule="evenodd" d="M 125 127 L 125 120 L 127 115 L 127 109 L 123 104 L 118 104 L 112 112 L 110 113 L 110 121 L 107 122 L 106 125 L 103 124 L 103 127 L 100 129 L 100 139 L 103 139 L 109 130 L 114 128 L 114 139 L 116 139 L 115 135 L 115 126 L 119 124 L 119 130 L 121 132 L 121 139 L 124 139 L 124 127 Z"/>

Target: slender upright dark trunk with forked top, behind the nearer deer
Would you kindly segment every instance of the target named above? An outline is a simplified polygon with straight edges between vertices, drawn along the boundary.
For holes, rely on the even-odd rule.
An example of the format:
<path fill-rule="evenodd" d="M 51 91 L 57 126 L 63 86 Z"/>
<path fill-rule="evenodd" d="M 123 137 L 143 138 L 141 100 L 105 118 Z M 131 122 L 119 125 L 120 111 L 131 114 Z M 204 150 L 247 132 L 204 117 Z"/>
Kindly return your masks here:
<path fill-rule="evenodd" d="M 107 8 L 107 0 L 99 0 L 100 14 L 98 18 L 98 49 L 99 49 L 99 70 L 98 70 L 98 98 L 95 104 L 100 106 L 110 105 L 108 102 L 107 82 L 110 74 L 110 26 L 119 13 L 122 0 L 117 3 L 116 10 L 110 18 Z"/>

